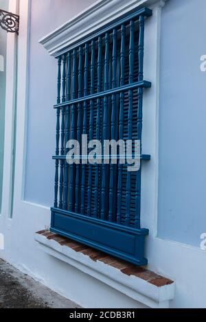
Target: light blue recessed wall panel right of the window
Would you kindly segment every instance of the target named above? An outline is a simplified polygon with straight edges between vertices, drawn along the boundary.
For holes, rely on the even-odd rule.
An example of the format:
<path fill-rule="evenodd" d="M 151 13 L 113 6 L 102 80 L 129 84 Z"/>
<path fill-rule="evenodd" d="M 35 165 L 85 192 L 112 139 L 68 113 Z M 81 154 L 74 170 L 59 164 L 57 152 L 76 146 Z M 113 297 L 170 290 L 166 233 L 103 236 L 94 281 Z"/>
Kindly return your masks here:
<path fill-rule="evenodd" d="M 206 232 L 206 1 L 169 0 L 161 23 L 158 233 L 199 246 Z"/>

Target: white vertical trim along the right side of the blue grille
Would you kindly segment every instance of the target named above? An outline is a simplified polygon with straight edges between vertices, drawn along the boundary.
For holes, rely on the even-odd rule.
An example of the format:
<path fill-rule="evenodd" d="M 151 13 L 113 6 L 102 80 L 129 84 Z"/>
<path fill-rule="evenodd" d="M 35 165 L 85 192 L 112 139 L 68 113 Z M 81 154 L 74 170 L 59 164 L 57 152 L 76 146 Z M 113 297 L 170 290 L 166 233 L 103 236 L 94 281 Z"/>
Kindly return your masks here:
<path fill-rule="evenodd" d="M 143 162 L 141 171 L 141 226 L 157 236 L 158 175 L 159 175 L 159 69 L 161 10 L 165 1 L 159 1 L 152 8 L 153 14 L 146 20 L 144 35 L 144 79 L 152 83 L 144 90 L 143 97 L 143 153 L 151 155 L 149 162 Z M 151 55 L 152 53 L 152 55 Z"/>

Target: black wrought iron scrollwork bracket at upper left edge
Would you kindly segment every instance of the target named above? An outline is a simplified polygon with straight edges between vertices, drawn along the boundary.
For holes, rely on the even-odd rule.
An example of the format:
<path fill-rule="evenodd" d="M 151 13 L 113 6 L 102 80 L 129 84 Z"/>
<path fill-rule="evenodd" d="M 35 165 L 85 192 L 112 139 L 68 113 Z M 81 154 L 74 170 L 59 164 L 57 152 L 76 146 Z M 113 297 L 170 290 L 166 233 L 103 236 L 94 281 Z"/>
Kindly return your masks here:
<path fill-rule="evenodd" d="M 0 26 L 6 32 L 19 34 L 19 16 L 0 9 Z"/>

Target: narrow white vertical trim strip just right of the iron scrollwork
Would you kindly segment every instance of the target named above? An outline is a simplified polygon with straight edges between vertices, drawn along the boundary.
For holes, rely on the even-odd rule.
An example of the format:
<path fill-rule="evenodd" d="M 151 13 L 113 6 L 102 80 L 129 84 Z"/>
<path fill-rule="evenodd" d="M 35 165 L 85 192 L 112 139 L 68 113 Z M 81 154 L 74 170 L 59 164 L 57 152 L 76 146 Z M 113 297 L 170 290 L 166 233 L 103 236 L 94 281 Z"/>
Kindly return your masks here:
<path fill-rule="evenodd" d="M 16 168 L 14 185 L 14 208 L 22 201 L 25 182 L 25 156 L 27 138 L 27 97 L 29 95 L 29 42 L 30 42 L 30 0 L 21 0 L 19 12 L 19 60 L 18 60 L 18 90 L 16 113 Z"/>

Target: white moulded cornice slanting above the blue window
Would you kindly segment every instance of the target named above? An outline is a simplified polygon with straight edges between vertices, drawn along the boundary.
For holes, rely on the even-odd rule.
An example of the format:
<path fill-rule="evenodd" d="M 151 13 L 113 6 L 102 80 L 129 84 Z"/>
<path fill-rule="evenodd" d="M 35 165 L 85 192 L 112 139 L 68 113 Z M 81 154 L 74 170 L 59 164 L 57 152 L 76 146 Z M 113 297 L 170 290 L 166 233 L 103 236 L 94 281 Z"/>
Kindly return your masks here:
<path fill-rule="evenodd" d="M 163 7 L 166 0 L 98 0 L 80 14 L 43 37 L 39 42 L 49 55 L 58 56 L 62 51 L 74 45 L 78 40 L 98 31 L 119 16 L 133 12 L 137 8 L 152 6 Z"/>

